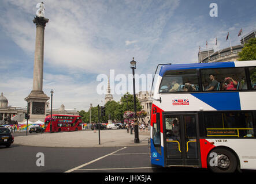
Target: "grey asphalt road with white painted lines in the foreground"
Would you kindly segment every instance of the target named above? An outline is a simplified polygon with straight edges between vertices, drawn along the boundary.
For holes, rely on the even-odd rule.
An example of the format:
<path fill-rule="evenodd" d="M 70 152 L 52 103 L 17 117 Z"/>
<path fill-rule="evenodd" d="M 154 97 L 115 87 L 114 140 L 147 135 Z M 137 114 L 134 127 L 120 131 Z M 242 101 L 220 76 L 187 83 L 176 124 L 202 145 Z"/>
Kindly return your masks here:
<path fill-rule="evenodd" d="M 44 155 L 44 166 L 36 165 L 39 152 Z M 0 173 L 47 172 L 47 173 L 163 173 L 207 172 L 195 168 L 151 167 L 149 148 L 137 147 L 90 147 L 49 148 L 13 144 L 0 147 Z"/>

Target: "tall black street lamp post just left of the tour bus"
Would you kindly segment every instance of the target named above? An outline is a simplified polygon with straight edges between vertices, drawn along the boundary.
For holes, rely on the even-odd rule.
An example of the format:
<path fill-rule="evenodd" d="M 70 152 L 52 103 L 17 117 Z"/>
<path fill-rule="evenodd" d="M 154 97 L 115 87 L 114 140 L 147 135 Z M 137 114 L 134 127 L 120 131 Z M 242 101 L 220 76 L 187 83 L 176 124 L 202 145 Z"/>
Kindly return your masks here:
<path fill-rule="evenodd" d="M 136 108 L 136 95 L 135 95 L 135 75 L 134 70 L 136 69 L 136 61 L 134 60 L 134 57 L 132 58 L 131 68 L 132 68 L 132 76 L 133 76 L 133 102 L 134 102 L 134 143 L 139 143 L 139 127 L 138 127 L 138 121 L 137 121 L 137 108 Z"/>

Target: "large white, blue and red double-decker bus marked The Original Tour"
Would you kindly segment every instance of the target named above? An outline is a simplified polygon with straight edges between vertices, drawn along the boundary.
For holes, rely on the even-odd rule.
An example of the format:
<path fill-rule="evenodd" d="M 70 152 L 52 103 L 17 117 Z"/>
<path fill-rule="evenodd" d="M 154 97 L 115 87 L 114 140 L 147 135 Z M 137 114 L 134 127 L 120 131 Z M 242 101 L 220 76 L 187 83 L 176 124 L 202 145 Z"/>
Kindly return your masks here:
<path fill-rule="evenodd" d="M 151 164 L 255 170 L 256 61 L 159 65 Z"/>

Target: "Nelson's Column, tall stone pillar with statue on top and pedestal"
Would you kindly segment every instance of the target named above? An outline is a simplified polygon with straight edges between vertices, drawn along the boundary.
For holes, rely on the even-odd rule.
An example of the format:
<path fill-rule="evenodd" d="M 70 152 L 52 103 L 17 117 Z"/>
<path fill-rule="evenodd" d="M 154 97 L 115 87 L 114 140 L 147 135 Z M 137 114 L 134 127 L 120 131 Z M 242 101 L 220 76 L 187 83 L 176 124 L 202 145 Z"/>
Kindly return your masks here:
<path fill-rule="evenodd" d="M 43 2 L 36 5 L 36 17 L 33 22 L 36 24 L 36 43 L 34 59 L 33 89 L 28 97 L 24 98 L 28 102 L 29 121 L 44 121 L 46 117 L 46 101 L 50 99 L 43 93 L 43 49 L 44 49 L 44 27 L 49 19 L 44 18 Z"/>

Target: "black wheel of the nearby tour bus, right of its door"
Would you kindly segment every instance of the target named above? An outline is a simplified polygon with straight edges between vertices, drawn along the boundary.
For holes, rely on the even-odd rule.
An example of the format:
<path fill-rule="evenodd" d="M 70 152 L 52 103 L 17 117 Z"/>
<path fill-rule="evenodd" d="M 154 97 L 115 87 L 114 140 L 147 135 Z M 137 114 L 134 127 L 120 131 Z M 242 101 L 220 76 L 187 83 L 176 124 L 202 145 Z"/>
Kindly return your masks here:
<path fill-rule="evenodd" d="M 238 160 L 228 149 L 216 148 L 210 152 L 207 158 L 207 164 L 208 168 L 214 173 L 233 173 L 238 167 Z"/>

